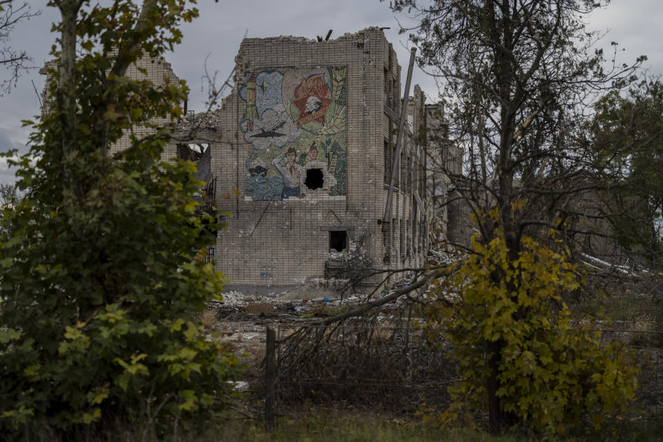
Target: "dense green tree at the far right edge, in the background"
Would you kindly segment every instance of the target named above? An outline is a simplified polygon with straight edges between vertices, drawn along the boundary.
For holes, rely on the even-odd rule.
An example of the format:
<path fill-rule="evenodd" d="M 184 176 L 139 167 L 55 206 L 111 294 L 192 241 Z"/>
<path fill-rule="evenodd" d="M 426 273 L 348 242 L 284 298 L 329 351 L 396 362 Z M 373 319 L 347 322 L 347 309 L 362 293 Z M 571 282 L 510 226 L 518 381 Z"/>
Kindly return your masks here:
<path fill-rule="evenodd" d="M 642 81 L 627 94 L 611 91 L 586 126 L 589 149 L 602 158 L 615 192 L 610 220 L 627 249 L 660 263 L 663 254 L 663 85 Z"/>

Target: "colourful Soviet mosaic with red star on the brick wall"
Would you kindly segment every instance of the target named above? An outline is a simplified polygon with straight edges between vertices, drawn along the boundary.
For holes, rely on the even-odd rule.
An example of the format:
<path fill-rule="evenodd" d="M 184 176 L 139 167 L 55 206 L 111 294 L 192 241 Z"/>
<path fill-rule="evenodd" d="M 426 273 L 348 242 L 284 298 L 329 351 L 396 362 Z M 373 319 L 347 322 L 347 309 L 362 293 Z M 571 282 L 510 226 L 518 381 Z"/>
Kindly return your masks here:
<path fill-rule="evenodd" d="M 345 195 L 346 73 L 345 67 L 291 68 L 244 77 L 240 130 L 251 144 L 248 197 Z"/>

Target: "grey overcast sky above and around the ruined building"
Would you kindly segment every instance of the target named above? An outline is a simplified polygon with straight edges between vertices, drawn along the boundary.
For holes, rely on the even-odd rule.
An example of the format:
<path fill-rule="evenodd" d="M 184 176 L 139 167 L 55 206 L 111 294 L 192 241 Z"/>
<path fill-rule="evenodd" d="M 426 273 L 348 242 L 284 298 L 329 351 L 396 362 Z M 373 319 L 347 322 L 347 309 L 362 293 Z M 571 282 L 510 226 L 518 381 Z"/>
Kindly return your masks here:
<path fill-rule="evenodd" d="M 41 10 L 41 16 L 19 23 L 11 35 L 11 46 L 26 50 L 35 66 L 43 66 L 49 59 L 48 52 L 55 42 L 50 33 L 51 24 L 57 21 L 54 8 L 46 8 L 46 0 L 30 1 L 33 10 Z M 200 18 L 186 23 L 184 41 L 173 53 L 166 55 L 175 74 L 186 79 L 191 88 L 189 109 L 204 110 L 206 93 L 201 77 L 204 60 L 209 55 L 208 70 L 218 72 L 222 82 L 231 72 L 240 42 L 247 37 L 274 37 L 296 35 L 315 39 L 327 35 L 333 29 L 332 39 L 345 32 L 357 32 L 369 26 L 391 27 L 385 30 L 403 66 L 403 85 L 410 43 L 405 35 L 398 35 L 398 23 L 406 22 L 396 17 L 388 8 L 388 1 L 378 0 L 199 0 Z M 605 46 L 617 41 L 620 61 L 634 61 L 639 55 L 647 55 L 650 75 L 663 74 L 663 1 L 661 0 L 613 0 L 605 10 L 587 18 L 591 29 L 606 32 Z M 621 49 L 624 49 L 623 51 Z M 0 78 L 4 74 L 0 70 Z M 415 68 L 413 84 L 419 84 L 427 94 L 427 102 L 437 100 L 434 81 Z M 24 74 L 12 93 L 0 97 L 0 151 L 19 148 L 26 151 L 29 131 L 21 128 L 21 119 L 39 113 L 39 99 L 35 93 L 44 87 L 44 77 L 37 69 Z M 13 182 L 14 171 L 8 170 L 0 160 L 0 182 Z"/>

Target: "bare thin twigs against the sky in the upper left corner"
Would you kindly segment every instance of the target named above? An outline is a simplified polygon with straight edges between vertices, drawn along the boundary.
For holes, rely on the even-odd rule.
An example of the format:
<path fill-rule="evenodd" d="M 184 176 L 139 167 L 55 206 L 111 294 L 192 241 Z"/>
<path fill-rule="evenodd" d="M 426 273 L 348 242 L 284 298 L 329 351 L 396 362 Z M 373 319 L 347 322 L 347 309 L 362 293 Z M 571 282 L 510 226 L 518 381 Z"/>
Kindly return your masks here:
<path fill-rule="evenodd" d="M 16 51 L 9 46 L 10 33 L 14 26 L 30 17 L 35 17 L 41 12 L 32 12 L 28 3 L 16 6 L 15 0 L 0 0 L 0 65 L 9 70 L 10 77 L 0 85 L 0 92 L 8 93 L 15 86 L 22 70 L 28 68 L 30 57 L 24 50 Z"/>

